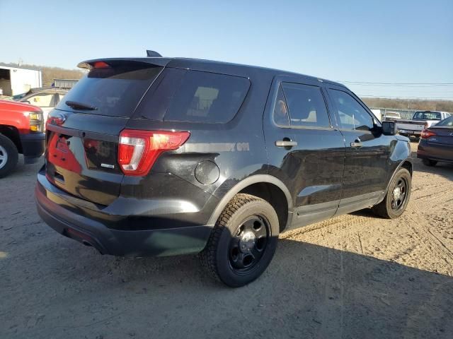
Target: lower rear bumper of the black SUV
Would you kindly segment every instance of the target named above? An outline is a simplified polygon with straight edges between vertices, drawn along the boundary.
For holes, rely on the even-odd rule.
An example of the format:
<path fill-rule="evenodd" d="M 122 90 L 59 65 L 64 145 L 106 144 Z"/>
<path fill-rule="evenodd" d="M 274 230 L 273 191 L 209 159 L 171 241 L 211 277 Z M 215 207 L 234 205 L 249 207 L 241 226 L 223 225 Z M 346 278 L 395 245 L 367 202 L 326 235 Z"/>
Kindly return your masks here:
<path fill-rule="evenodd" d="M 191 254 L 202 251 L 210 237 L 212 227 L 205 225 L 149 230 L 112 229 L 106 227 L 99 218 L 88 218 L 84 213 L 75 213 L 74 206 L 70 206 L 71 202 L 55 191 L 57 189 L 55 186 L 52 188 L 45 186 L 47 184 L 42 177 L 38 178 L 35 198 L 42 220 L 60 234 L 94 246 L 102 254 L 114 256 Z M 149 217 L 150 223 L 153 220 L 154 218 Z"/>

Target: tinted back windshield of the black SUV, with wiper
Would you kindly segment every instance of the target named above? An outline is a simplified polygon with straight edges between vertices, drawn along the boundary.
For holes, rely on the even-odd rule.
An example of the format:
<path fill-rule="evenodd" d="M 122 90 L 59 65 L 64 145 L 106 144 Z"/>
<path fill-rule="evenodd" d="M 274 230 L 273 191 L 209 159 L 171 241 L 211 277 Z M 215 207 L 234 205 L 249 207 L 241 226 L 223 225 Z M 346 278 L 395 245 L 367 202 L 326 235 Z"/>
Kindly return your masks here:
<path fill-rule="evenodd" d="M 149 85 L 162 67 L 142 63 L 122 63 L 105 69 L 92 69 L 72 88 L 57 109 L 72 112 L 130 117 Z M 96 110 L 72 109 L 67 101 L 96 107 Z"/>

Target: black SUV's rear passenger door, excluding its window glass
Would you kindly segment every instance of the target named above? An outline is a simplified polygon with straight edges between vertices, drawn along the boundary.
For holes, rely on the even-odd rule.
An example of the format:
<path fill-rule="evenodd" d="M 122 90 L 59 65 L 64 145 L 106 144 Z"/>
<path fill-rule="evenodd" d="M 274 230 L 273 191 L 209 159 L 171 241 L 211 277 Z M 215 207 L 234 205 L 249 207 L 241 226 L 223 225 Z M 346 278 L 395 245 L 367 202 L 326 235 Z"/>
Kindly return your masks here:
<path fill-rule="evenodd" d="M 321 93 L 322 83 L 311 78 L 277 76 L 263 119 L 269 174 L 289 189 L 294 203 L 291 227 L 301 227 L 331 218 L 336 213 L 341 196 L 345 144 L 332 119 L 333 124 L 327 128 L 277 126 L 273 110 L 282 82 L 316 86 Z M 296 144 L 278 147 L 279 141 Z"/>

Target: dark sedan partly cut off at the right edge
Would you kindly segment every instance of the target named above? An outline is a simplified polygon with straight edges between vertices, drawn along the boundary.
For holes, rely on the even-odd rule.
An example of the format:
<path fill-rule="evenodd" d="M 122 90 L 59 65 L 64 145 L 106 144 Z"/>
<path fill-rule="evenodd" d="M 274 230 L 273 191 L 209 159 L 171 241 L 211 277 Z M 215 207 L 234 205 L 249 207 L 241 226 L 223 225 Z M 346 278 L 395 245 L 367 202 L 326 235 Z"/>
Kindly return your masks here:
<path fill-rule="evenodd" d="M 422 131 L 417 157 L 427 166 L 435 166 L 439 161 L 453 163 L 453 117 Z"/>

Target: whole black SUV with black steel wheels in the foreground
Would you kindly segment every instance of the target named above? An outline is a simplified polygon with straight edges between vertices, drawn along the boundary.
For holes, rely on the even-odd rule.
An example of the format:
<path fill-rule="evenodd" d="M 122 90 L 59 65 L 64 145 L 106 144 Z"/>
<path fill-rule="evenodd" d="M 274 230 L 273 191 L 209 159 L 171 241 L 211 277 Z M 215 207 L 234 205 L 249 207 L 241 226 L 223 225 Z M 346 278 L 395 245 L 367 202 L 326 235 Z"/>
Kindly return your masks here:
<path fill-rule="evenodd" d="M 116 256 L 200 253 L 238 287 L 278 234 L 411 194 L 408 138 L 348 88 L 217 61 L 98 59 L 50 113 L 38 212 Z"/>

